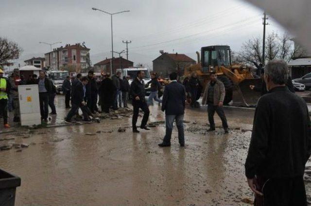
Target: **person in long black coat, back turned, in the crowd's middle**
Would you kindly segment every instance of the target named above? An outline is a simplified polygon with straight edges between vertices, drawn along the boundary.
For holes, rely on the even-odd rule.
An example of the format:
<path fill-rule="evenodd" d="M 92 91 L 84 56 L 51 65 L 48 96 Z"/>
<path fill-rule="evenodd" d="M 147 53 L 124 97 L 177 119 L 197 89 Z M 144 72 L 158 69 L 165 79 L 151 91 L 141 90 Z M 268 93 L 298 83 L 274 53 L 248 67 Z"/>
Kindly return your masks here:
<path fill-rule="evenodd" d="M 114 94 L 116 87 L 114 86 L 110 74 L 107 73 L 102 80 L 100 87 L 100 98 L 101 98 L 101 107 L 102 111 L 109 113 L 109 108 L 114 103 Z"/>

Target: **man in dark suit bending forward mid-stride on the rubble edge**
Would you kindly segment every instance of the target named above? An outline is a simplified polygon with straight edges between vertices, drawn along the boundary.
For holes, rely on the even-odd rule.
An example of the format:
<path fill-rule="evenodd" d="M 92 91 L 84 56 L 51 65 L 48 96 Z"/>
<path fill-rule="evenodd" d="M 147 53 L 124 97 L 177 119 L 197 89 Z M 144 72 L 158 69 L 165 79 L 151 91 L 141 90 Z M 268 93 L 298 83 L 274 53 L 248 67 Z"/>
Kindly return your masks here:
<path fill-rule="evenodd" d="M 87 111 L 86 102 L 84 101 L 85 95 L 86 95 L 86 84 L 88 83 L 88 78 L 83 77 L 81 78 L 81 81 L 76 82 L 74 90 L 72 91 L 72 98 L 71 98 L 71 109 L 69 113 L 67 114 L 67 117 L 65 119 L 65 123 L 71 124 L 71 118 L 77 113 L 79 108 L 81 108 L 84 121 L 90 122 L 89 119 L 89 112 Z"/>

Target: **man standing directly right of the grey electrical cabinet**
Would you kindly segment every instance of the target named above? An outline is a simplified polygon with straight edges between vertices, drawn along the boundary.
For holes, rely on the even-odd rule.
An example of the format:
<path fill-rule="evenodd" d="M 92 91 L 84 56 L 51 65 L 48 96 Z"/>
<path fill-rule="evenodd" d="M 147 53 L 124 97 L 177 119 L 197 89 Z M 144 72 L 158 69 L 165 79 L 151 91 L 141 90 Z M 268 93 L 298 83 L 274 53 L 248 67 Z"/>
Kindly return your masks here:
<path fill-rule="evenodd" d="M 39 102 L 40 102 L 40 113 L 41 120 L 48 122 L 49 115 L 49 95 L 52 91 L 51 80 L 46 78 L 45 71 L 39 72 L 39 79 L 37 79 L 39 88 Z"/>

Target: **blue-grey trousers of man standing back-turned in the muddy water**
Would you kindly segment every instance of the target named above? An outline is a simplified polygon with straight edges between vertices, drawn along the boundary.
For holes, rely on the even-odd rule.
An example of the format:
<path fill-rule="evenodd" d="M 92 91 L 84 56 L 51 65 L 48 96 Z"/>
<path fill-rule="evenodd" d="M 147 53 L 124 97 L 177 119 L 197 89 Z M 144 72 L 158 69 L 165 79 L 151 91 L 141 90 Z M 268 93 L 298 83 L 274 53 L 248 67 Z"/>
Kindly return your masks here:
<path fill-rule="evenodd" d="M 164 144 L 171 144 L 173 122 L 176 121 L 176 126 L 178 129 L 178 141 L 180 144 L 185 144 L 184 135 L 184 115 L 165 115 L 165 137 L 163 140 Z"/>

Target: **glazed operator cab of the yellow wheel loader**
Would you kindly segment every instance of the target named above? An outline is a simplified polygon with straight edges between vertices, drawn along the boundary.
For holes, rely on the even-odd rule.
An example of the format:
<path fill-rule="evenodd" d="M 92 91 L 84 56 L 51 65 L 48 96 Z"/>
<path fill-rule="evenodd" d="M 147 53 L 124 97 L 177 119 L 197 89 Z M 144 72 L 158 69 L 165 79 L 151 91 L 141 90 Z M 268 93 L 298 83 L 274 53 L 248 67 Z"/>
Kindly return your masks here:
<path fill-rule="evenodd" d="M 209 72 L 216 66 L 228 67 L 231 65 L 231 52 L 229 46 L 208 46 L 201 48 L 201 65 L 203 72 Z"/>

